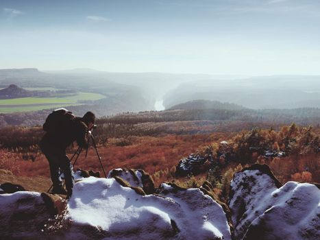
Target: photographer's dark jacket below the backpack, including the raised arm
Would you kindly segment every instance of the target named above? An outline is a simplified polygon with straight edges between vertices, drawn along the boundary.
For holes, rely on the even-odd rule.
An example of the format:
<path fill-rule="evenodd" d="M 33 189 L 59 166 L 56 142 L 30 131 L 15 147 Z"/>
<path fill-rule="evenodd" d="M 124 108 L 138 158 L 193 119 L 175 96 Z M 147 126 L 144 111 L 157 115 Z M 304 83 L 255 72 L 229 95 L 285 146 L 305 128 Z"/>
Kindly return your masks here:
<path fill-rule="evenodd" d="M 82 118 L 70 121 L 69 125 L 56 132 L 46 132 L 40 141 L 40 148 L 46 152 L 65 152 L 74 141 L 79 147 L 86 147 L 88 127 Z"/>

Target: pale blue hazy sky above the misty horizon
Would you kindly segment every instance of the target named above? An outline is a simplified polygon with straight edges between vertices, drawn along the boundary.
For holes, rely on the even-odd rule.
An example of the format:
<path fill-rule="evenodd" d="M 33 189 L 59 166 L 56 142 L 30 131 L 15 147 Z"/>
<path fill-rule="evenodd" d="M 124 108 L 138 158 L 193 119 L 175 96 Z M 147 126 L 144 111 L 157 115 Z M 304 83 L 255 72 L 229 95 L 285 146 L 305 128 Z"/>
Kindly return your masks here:
<path fill-rule="evenodd" d="M 319 0 L 0 0 L 0 69 L 320 74 Z"/>

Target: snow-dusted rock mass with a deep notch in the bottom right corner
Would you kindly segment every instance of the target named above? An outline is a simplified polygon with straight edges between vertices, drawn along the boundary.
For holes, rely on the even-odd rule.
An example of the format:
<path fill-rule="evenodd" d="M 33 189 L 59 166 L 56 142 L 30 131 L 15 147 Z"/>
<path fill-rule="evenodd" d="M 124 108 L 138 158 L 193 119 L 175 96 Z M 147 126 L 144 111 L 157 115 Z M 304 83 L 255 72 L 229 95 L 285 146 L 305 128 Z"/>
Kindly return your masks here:
<path fill-rule="evenodd" d="M 267 165 L 245 168 L 230 184 L 234 239 L 320 239 L 319 203 L 314 184 L 281 186 Z"/>

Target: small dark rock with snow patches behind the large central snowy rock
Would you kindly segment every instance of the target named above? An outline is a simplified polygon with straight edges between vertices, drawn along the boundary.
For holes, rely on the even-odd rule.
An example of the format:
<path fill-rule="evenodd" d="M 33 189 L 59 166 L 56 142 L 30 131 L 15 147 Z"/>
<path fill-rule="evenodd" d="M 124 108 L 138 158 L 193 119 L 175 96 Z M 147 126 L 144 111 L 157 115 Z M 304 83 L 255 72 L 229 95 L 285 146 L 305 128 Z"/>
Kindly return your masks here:
<path fill-rule="evenodd" d="M 143 171 L 142 169 L 112 169 L 108 173 L 108 178 L 114 177 L 123 178 L 123 180 L 130 183 L 132 187 L 140 187 L 145 191 L 146 194 L 152 194 L 156 192 L 156 188 L 154 187 L 153 180 L 149 176 L 148 173 Z"/>

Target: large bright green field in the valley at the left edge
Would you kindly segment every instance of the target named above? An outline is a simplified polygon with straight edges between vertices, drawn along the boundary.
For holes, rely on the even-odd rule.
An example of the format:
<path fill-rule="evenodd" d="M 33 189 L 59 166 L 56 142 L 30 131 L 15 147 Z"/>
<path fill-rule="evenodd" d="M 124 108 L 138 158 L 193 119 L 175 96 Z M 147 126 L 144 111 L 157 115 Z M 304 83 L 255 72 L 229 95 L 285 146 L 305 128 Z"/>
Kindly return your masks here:
<path fill-rule="evenodd" d="M 82 104 L 81 101 L 95 101 L 105 96 L 98 93 L 76 93 L 67 97 L 21 97 L 0 99 L 0 113 L 27 112 L 47 108 L 60 108 Z"/>

